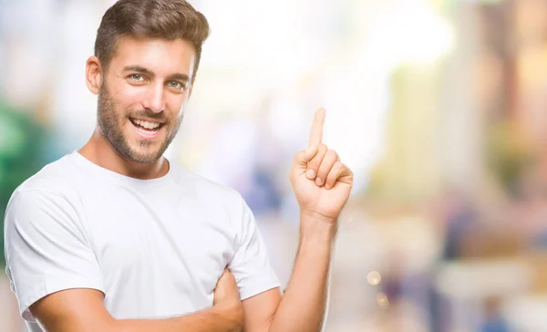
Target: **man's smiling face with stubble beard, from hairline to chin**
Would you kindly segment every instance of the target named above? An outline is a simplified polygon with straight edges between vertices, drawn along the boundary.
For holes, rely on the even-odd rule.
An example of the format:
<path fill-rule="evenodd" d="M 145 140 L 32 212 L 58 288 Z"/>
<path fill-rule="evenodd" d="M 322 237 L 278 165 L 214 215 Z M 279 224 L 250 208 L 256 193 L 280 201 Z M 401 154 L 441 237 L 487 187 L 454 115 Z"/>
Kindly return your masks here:
<path fill-rule="evenodd" d="M 195 51 L 183 40 L 123 39 L 98 91 L 98 127 L 124 159 L 157 161 L 181 127 Z"/>

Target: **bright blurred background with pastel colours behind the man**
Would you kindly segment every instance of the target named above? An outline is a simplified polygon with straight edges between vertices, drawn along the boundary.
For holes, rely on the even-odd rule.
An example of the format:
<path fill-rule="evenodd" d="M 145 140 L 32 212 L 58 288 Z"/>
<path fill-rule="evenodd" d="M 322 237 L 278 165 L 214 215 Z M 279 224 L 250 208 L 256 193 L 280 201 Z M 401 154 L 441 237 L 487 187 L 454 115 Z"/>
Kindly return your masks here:
<path fill-rule="evenodd" d="M 113 3 L 0 0 L 0 215 L 94 129 Z M 547 331 L 547 0 L 191 4 L 212 35 L 167 155 L 243 194 L 284 285 L 315 109 L 356 174 L 325 331 Z M 22 329 L 2 273 L 0 331 Z"/>

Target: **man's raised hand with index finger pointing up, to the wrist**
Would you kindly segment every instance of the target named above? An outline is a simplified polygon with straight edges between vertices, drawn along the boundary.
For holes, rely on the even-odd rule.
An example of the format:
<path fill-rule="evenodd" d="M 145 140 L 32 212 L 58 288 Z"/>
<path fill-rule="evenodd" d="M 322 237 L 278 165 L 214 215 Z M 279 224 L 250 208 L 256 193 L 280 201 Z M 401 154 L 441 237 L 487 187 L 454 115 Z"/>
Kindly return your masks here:
<path fill-rule="evenodd" d="M 317 109 L 308 148 L 296 153 L 291 183 L 301 213 L 335 223 L 349 198 L 353 172 L 323 140 L 325 109 Z"/>

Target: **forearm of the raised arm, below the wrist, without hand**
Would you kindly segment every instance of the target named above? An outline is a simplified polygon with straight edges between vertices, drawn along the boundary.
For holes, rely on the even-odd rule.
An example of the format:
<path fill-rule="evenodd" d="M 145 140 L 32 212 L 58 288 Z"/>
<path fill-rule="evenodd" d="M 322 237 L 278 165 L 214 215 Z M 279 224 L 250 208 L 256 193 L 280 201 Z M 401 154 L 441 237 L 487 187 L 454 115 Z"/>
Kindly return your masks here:
<path fill-rule="evenodd" d="M 269 332 L 320 330 L 325 316 L 335 234 L 335 223 L 301 215 L 300 245 L 293 275 Z"/>

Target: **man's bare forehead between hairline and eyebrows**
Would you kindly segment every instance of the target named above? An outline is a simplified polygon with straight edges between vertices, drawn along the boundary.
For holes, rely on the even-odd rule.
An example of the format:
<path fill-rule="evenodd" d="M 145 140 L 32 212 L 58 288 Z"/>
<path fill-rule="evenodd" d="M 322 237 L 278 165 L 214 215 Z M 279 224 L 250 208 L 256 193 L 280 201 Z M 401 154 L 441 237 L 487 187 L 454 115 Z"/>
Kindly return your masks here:
<path fill-rule="evenodd" d="M 119 41 L 109 67 L 121 70 L 127 66 L 139 66 L 157 75 L 181 73 L 191 77 L 195 57 L 194 47 L 186 40 L 126 37 Z"/>

